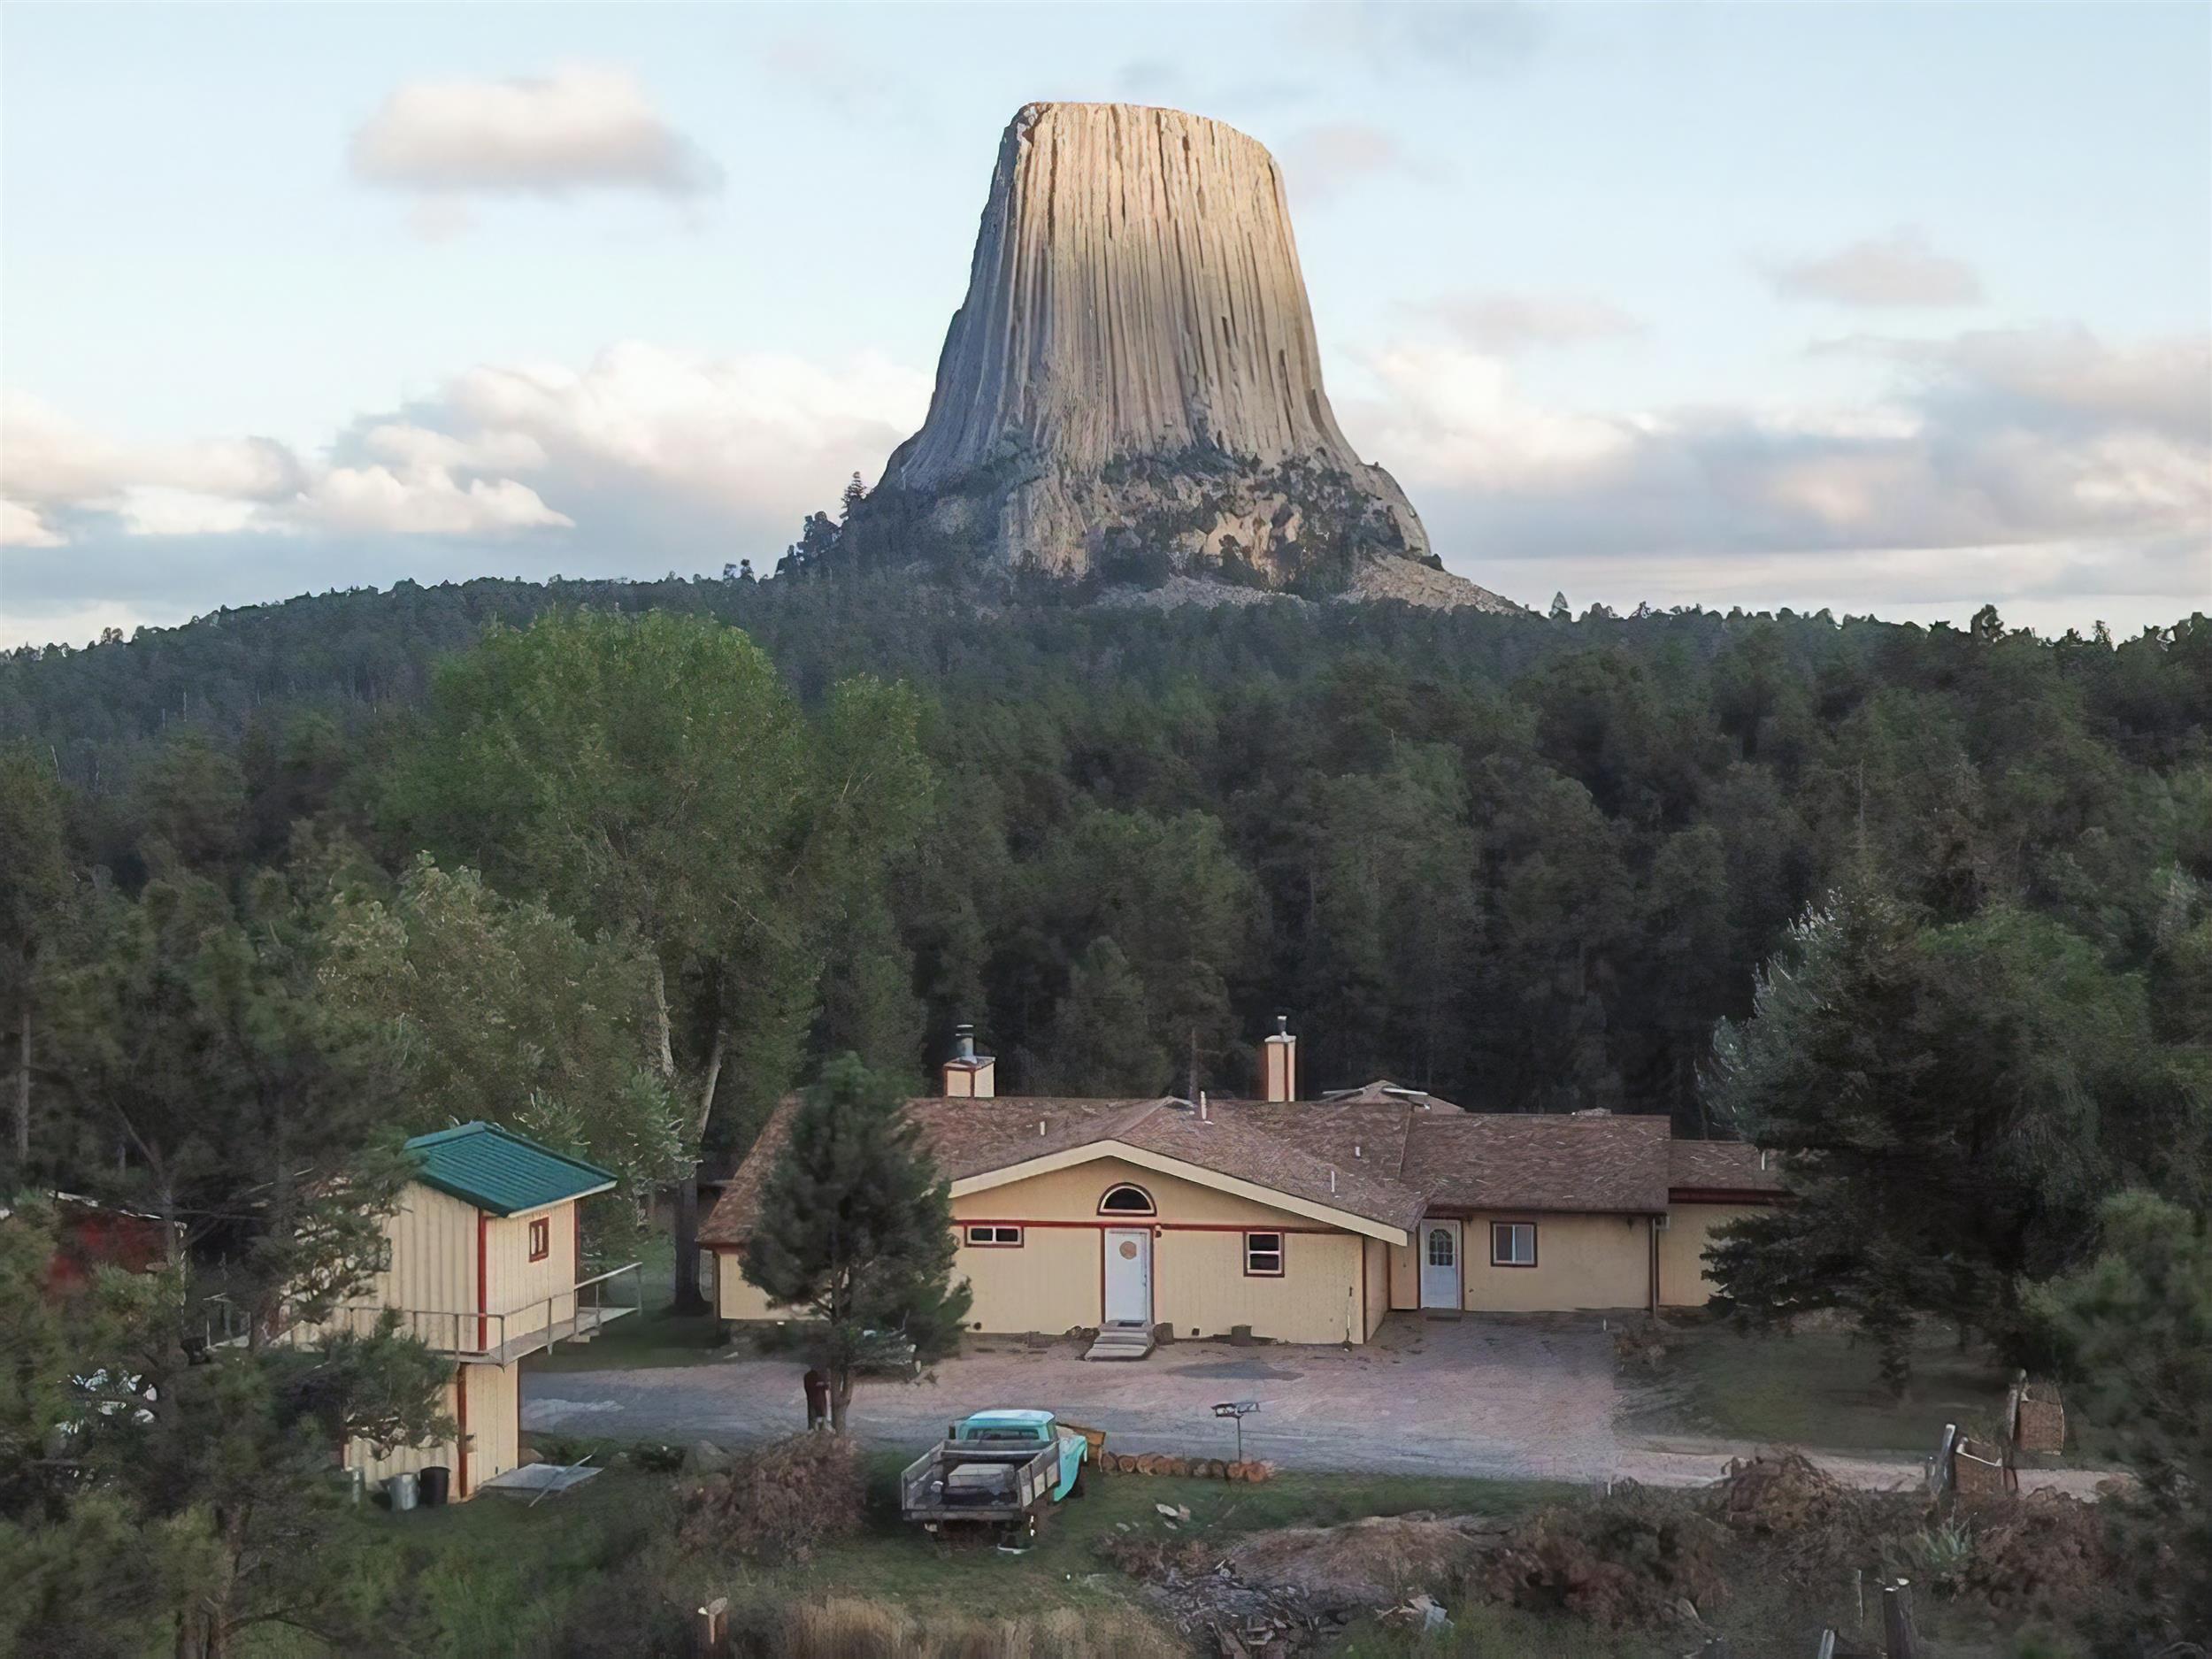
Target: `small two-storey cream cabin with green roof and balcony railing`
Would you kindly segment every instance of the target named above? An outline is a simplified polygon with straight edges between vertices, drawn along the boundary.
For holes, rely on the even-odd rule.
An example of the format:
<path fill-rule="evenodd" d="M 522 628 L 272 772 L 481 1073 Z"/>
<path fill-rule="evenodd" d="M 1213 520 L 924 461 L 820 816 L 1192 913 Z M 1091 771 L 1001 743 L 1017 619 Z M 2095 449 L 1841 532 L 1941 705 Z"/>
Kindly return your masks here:
<path fill-rule="evenodd" d="M 387 1265 L 365 1296 L 319 1329 L 367 1332 L 385 1312 L 453 1360 L 442 1411 L 458 1440 L 378 1455 L 352 1442 L 345 1464 L 369 1482 L 445 1467 L 453 1500 L 473 1498 L 522 1462 L 522 1360 L 555 1343 L 588 1343 L 637 1305 L 637 1263 L 584 1272 L 584 1199 L 615 1177 L 498 1124 L 460 1124 L 407 1141 L 416 1175 L 385 1217 Z M 628 1276 L 624 1303 L 611 1303 Z M 299 1332 L 296 1340 L 314 1340 Z"/>

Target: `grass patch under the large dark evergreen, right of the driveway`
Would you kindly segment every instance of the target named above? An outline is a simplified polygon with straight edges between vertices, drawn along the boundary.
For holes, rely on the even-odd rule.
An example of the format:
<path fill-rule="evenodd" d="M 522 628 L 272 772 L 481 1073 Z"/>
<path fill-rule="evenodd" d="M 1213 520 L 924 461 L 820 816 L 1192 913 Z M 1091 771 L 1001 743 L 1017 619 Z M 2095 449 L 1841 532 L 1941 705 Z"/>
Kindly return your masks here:
<path fill-rule="evenodd" d="M 1646 1433 L 1694 1433 L 1823 1451 L 1929 1455 L 1942 1425 L 1993 1425 L 2008 1374 L 1986 1354 L 1927 1332 L 1913 1347 L 1902 1400 L 1882 1385 L 1874 1349 L 1840 1332 L 1739 1336 L 1683 1325 L 1650 1378 L 1630 1376 L 1630 1422 Z"/>

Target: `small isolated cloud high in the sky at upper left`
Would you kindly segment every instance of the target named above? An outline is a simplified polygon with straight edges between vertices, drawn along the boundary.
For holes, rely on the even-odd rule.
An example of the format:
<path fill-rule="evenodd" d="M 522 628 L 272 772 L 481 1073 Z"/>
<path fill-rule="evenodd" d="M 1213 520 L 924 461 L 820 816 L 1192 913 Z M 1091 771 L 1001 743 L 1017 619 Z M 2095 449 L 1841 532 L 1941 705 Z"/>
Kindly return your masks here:
<path fill-rule="evenodd" d="M 675 131 L 639 80 L 568 66 L 518 80 L 416 80 L 356 133 L 354 177 L 425 192 L 721 188 L 721 168 Z M 449 223 L 442 226 L 447 232 Z"/>

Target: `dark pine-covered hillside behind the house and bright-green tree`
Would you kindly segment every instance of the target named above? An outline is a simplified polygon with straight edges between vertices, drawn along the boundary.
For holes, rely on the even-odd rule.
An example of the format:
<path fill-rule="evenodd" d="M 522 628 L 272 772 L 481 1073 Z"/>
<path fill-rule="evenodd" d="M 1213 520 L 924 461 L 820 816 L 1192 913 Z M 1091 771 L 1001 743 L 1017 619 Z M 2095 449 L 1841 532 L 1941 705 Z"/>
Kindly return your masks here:
<path fill-rule="evenodd" d="M 1004 1088 L 1307 1082 L 1697 1119 L 1719 1015 L 1856 849 L 1929 925 L 2026 914 L 2115 975 L 2212 880 L 2212 624 L 2119 644 L 1668 613 L 1071 604 L 891 577 L 471 582 L 230 611 L 0 661 L 0 737 L 88 863 L 234 752 L 248 854 L 336 821 L 398 869 L 376 774 L 431 666 L 555 606 L 706 613 L 805 699 L 929 697 L 940 779 L 889 914 L 852 918 L 818 1042 L 920 1064 L 967 1018 Z M 867 1009 L 856 987 L 872 984 Z M 2141 987 L 2137 987 L 2139 991 Z M 878 995 L 880 991 L 880 995 Z M 841 1026 L 841 1020 L 845 1022 Z M 883 1042 L 883 1037 L 874 1037 Z"/>

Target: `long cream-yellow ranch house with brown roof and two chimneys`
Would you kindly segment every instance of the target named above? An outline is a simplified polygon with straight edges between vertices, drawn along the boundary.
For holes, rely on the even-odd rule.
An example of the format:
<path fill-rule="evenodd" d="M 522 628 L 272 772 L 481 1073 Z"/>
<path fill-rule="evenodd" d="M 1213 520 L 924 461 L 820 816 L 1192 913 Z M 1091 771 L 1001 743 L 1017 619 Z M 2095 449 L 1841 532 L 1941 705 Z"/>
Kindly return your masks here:
<path fill-rule="evenodd" d="M 1708 1301 L 1714 1228 L 1781 1199 L 1741 1141 L 1666 1117 L 1469 1113 L 1374 1082 L 1296 1099 L 1296 1037 L 1261 1051 L 1265 1099 L 998 1097 L 962 1035 L 911 1099 L 951 1181 L 978 1332 L 1365 1343 L 1391 1312 L 1526 1314 Z M 781 1310 L 741 1259 L 796 1102 L 770 1117 L 701 1245 L 730 1321 Z"/>

